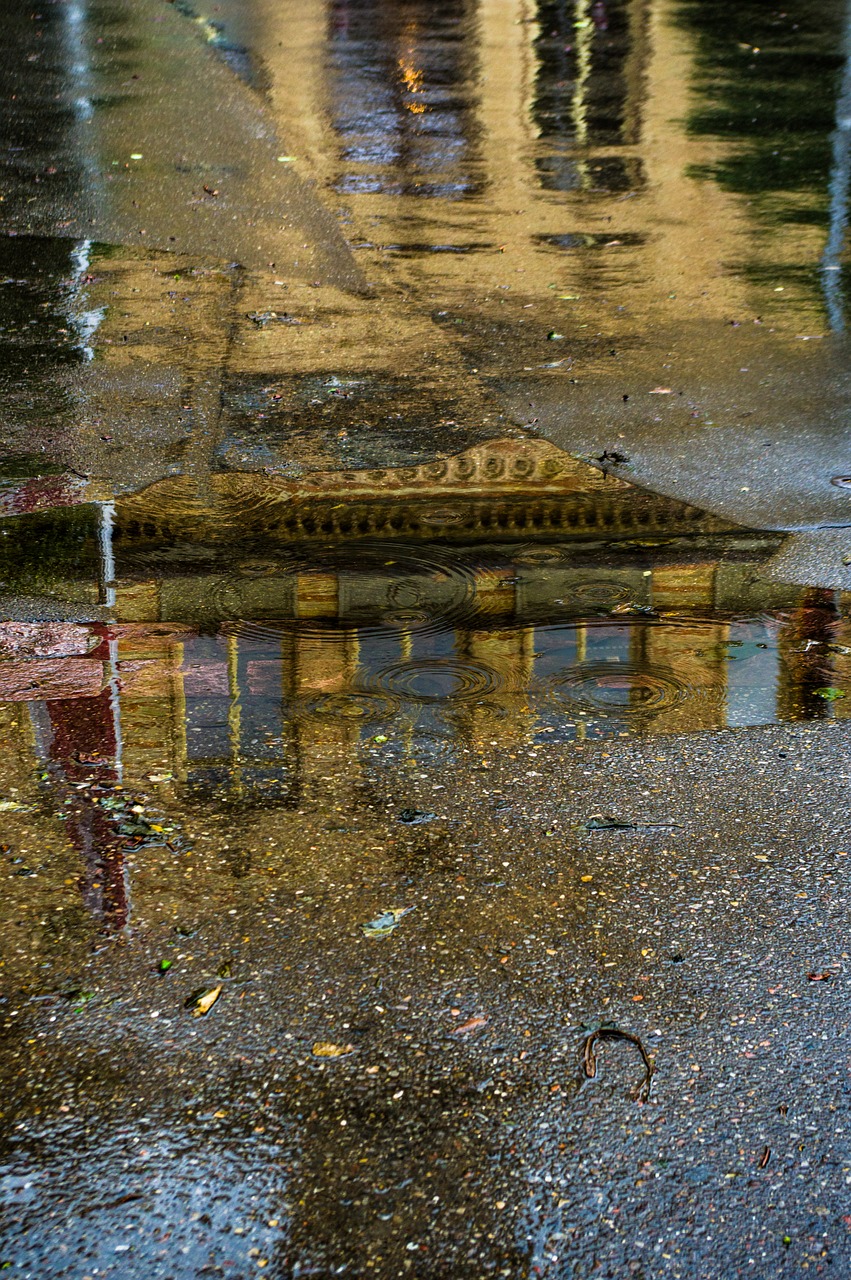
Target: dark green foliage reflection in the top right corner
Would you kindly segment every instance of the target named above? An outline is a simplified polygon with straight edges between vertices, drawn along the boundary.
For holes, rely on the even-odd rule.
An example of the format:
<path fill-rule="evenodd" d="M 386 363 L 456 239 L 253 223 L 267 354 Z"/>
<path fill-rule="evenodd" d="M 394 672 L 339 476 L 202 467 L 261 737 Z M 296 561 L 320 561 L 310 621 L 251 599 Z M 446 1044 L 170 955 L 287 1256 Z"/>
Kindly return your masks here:
<path fill-rule="evenodd" d="M 848 201 L 847 5 L 769 10 L 759 4 L 685 3 L 696 37 L 688 131 L 720 143 L 696 173 L 747 197 L 764 244 L 742 264 L 754 280 L 783 274 L 814 283 L 815 264 L 790 257 L 806 228 L 824 238 L 822 284 L 831 326 L 845 328 L 842 270 Z M 754 113 L 758 113 L 756 115 Z M 790 128 L 790 125 L 793 125 Z M 815 276 L 818 279 L 818 276 Z"/>

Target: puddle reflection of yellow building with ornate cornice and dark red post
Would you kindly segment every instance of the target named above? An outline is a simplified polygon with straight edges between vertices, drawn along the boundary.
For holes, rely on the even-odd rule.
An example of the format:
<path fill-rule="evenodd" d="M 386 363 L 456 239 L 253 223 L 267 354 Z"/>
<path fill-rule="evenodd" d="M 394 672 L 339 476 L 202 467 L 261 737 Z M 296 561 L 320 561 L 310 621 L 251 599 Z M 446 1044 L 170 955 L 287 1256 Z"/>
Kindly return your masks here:
<path fill-rule="evenodd" d="M 119 782 L 156 785 L 178 823 L 207 806 L 262 820 L 357 806 L 367 776 L 458 750 L 851 710 L 819 692 L 851 675 L 845 602 L 760 575 L 777 535 L 540 442 L 175 479 L 106 522 L 74 508 L 5 534 L 13 594 L 102 617 L 59 655 L 33 625 L 28 655 L 0 660 L 0 695 L 29 704 L 6 717 L 13 758 L 68 804 L 107 928 L 128 919 L 136 838 L 109 808 Z"/>

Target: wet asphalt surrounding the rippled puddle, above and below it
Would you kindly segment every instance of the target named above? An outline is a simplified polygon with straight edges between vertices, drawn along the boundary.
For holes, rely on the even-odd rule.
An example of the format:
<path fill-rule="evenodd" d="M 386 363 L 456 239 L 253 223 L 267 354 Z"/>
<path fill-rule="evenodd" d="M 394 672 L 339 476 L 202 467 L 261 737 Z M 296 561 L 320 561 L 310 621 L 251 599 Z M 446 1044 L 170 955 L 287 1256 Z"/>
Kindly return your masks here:
<path fill-rule="evenodd" d="M 836 0 L 0 8 L 4 520 L 544 439 L 847 608 Z M 42 570 L 9 616 L 115 612 Z M 3 704 L 10 1276 L 851 1275 L 847 721 L 331 737 L 255 808 L 155 771 L 111 927 L 45 707 Z"/>

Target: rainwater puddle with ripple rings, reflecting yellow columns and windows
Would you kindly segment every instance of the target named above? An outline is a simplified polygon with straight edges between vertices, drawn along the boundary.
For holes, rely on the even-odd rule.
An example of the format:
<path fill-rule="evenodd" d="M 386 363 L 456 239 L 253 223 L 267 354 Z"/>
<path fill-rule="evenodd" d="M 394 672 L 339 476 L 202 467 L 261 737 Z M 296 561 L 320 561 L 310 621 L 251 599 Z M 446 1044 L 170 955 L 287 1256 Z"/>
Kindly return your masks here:
<path fill-rule="evenodd" d="M 458 502 L 461 527 L 435 538 L 424 500 L 397 512 L 417 538 L 260 545 L 247 525 L 241 544 L 196 543 L 134 502 L 106 561 L 97 509 L 4 524 L 29 618 L 0 627 L 0 699 L 35 735 L 33 769 L 93 760 L 275 805 L 328 753 L 335 771 L 380 772 L 851 709 L 848 599 L 764 576 L 777 535 L 495 540 Z"/>

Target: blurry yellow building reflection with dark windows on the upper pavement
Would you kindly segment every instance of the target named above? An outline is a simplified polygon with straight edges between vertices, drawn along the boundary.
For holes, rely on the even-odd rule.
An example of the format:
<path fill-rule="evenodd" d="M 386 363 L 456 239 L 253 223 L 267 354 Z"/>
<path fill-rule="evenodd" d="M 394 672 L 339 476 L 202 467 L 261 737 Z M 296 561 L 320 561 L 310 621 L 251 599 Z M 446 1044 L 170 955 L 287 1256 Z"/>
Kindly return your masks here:
<path fill-rule="evenodd" d="M 759 370 L 781 338 L 752 325 L 782 307 L 787 334 L 823 328 L 810 285 L 767 291 L 759 268 L 795 253 L 815 265 L 823 228 L 799 219 L 755 234 L 755 210 L 728 184 L 692 175 L 715 172 L 720 143 L 683 124 L 703 46 L 668 0 L 280 0 L 257 20 L 293 168 L 335 204 L 346 187 L 353 251 L 338 247 L 374 292 L 352 288 L 357 271 L 316 282 L 289 251 L 246 269 L 151 253 L 147 241 L 68 242 L 51 340 L 69 425 L 51 429 L 45 454 L 70 470 L 47 493 L 17 494 L 18 507 L 73 500 L 81 475 L 111 498 L 177 471 L 447 456 L 505 430 L 507 374 L 531 375 L 541 422 L 541 388 L 557 399 L 546 429 L 558 439 L 577 422 L 608 439 L 619 413 L 630 426 L 664 415 L 678 431 L 740 425 L 777 417 L 781 399 L 786 420 L 792 358 L 796 412 L 818 398 L 832 419 L 828 344 L 781 352 L 784 379 L 773 370 L 769 385 Z M 192 24 L 183 35 L 197 38 Z M 137 180 L 129 160 L 119 169 Z M 230 219 L 224 187 L 189 186 L 192 218 Z M 328 225 L 316 228 L 325 242 Z M 41 342 L 42 305 L 27 306 Z M 639 401 L 636 387 L 674 380 L 668 369 L 682 399 Z M 529 412 L 522 387 L 513 403 Z"/>

